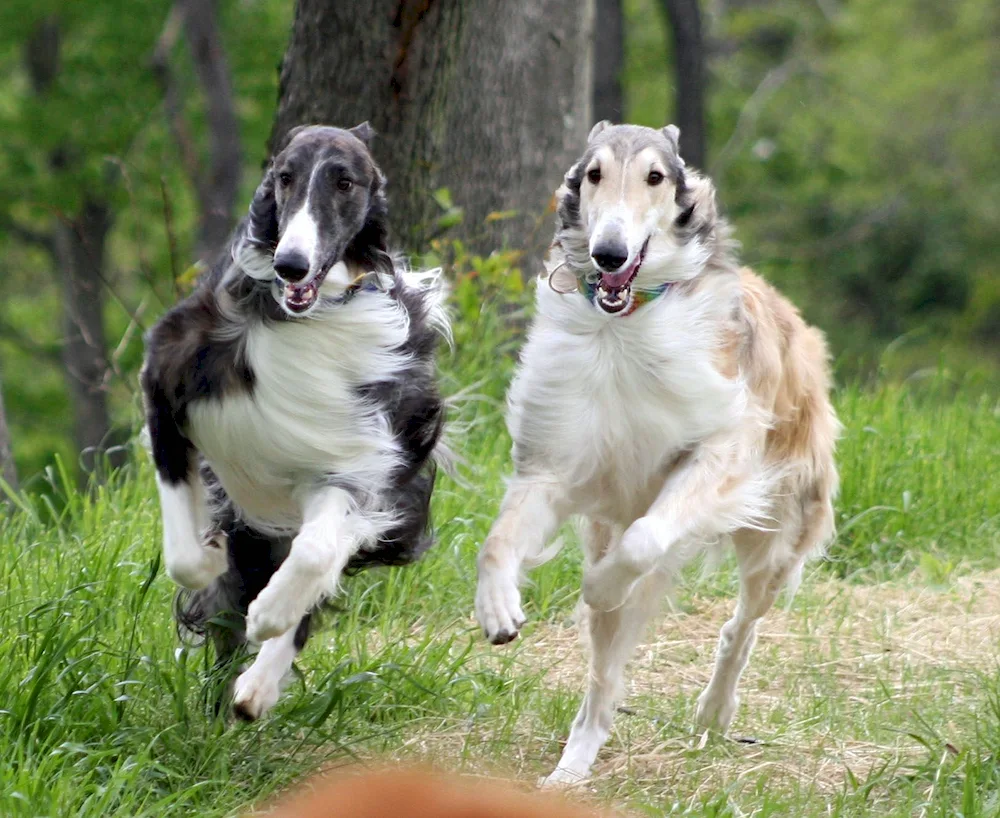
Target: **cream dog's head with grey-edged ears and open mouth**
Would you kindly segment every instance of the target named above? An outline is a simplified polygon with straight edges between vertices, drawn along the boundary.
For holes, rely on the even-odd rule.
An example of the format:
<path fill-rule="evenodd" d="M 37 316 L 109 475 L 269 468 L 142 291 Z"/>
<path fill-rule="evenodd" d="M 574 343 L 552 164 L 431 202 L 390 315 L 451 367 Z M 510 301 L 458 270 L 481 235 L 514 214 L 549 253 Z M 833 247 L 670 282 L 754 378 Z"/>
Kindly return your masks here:
<path fill-rule="evenodd" d="M 717 215 L 711 183 L 684 166 L 680 131 L 599 122 L 557 191 L 556 240 L 573 271 L 596 283 L 609 314 L 633 287 L 692 278 Z"/>

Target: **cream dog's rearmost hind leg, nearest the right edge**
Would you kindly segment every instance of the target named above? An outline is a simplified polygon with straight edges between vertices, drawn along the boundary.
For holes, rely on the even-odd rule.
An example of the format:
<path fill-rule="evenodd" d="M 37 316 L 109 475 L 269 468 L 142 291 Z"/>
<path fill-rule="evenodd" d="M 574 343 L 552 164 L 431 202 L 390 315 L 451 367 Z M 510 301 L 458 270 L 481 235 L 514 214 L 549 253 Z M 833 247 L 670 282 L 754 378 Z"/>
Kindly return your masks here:
<path fill-rule="evenodd" d="M 712 678 L 698 697 L 696 719 L 702 727 L 722 732 L 729 728 L 739 706 L 736 687 L 757 639 L 757 623 L 833 530 L 829 501 L 800 505 L 795 498 L 779 508 L 780 530 L 743 529 L 733 535 L 740 566 L 740 597 L 735 614 L 719 634 Z"/>

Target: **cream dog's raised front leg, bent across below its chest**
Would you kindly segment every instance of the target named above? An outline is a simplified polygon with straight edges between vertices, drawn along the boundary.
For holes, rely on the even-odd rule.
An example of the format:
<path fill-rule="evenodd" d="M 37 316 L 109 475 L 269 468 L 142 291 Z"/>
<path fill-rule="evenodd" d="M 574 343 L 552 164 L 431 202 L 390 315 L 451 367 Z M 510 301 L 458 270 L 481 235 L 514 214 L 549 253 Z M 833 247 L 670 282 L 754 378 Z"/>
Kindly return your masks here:
<path fill-rule="evenodd" d="M 704 543 L 759 524 L 767 513 L 770 485 L 765 476 L 752 476 L 751 452 L 749 445 L 727 438 L 703 443 L 687 455 L 646 514 L 585 573 L 584 601 L 613 611 L 654 568 L 676 575 Z"/>

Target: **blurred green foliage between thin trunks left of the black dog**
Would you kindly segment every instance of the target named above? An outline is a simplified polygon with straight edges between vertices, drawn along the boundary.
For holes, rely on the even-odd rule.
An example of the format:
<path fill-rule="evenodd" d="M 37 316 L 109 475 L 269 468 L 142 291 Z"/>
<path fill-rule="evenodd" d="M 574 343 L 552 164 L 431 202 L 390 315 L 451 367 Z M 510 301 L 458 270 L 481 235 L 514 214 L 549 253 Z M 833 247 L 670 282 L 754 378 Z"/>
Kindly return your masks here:
<path fill-rule="evenodd" d="M 259 181 L 292 5 L 219 3 L 244 145 L 243 202 Z M 50 254 L 7 230 L 7 220 L 46 234 L 73 218 L 85 197 L 112 204 L 104 279 L 116 371 L 108 388 L 114 419 L 131 426 L 142 330 L 176 298 L 197 217 L 151 67 L 172 6 L 11 0 L 0 7 L 0 380 L 19 471 L 39 487 L 35 478 L 53 454 L 74 465 L 77 459 L 59 360 L 61 271 Z M 49 19 L 60 32 L 58 70 L 38 93 L 23 48 Z M 195 148 L 204 155 L 204 106 L 186 47 L 182 38 L 171 62 Z"/>

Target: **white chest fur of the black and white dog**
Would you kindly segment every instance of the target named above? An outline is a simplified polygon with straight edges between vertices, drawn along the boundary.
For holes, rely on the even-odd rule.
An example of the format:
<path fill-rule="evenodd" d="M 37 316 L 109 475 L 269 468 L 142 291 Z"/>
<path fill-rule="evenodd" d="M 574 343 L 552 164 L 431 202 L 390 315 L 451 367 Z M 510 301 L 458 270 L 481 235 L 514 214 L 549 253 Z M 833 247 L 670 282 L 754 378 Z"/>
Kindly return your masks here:
<path fill-rule="evenodd" d="M 392 380 L 408 319 L 382 293 L 360 293 L 301 321 L 250 328 L 251 394 L 193 403 L 190 433 L 252 522 L 301 524 L 303 496 L 329 474 L 380 491 L 396 462 L 388 419 L 358 387 Z"/>

